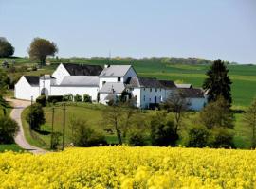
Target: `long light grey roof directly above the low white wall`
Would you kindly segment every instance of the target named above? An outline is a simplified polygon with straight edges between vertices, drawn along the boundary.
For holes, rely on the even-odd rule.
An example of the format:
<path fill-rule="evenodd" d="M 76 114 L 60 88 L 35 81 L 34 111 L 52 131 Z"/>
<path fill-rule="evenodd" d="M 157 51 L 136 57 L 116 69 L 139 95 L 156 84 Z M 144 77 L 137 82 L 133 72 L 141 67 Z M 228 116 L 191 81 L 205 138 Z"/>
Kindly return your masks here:
<path fill-rule="evenodd" d="M 97 76 L 66 76 L 60 86 L 99 86 Z"/>

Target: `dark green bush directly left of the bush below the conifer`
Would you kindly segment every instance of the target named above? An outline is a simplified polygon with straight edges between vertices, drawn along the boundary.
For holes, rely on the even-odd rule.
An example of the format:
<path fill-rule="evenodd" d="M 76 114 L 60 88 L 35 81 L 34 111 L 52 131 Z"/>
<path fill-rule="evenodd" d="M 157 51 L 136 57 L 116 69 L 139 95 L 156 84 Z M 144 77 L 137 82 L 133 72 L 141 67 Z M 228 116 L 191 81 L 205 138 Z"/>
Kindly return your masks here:
<path fill-rule="evenodd" d="M 188 130 L 186 146 L 205 147 L 208 145 L 209 130 L 204 126 L 193 126 Z"/>

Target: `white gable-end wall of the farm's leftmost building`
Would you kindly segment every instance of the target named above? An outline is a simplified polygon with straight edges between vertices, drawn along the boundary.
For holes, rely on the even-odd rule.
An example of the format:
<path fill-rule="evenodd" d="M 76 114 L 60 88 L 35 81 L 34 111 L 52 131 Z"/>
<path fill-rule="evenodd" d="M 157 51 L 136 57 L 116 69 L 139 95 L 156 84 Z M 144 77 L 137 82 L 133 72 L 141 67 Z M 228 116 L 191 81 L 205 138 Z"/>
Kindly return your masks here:
<path fill-rule="evenodd" d="M 35 101 L 39 95 L 39 86 L 31 86 L 25 77 L 21 77 L 15 84 L 14 96 L 17 99 L 31 100 L 32 96 Z"/>

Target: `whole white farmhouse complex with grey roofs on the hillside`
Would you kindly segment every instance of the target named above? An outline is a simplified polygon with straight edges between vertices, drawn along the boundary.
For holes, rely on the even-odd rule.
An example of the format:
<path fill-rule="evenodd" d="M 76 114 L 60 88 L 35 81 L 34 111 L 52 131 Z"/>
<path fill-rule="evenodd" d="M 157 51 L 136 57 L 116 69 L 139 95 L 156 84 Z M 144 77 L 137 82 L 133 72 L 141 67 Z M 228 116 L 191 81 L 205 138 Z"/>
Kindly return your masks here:
<path fill-rule="evenodd" d="M 200 110 L 207 100 L 201 89 L 192 85 L 179 85 L 171 80 L 137 77 L 131 65 L 85 65 L 62 63 L 52 76 L 23 76 L 15 85 L 15 97 L 35 100 L 41 94 L 66 95 L 88 94 L 94 102 L 107 104 L 122 94 L 134 97 L 136 106 L 142 109 L 155 108 L 175 90 L 182 89 L 192 110 Z"/>

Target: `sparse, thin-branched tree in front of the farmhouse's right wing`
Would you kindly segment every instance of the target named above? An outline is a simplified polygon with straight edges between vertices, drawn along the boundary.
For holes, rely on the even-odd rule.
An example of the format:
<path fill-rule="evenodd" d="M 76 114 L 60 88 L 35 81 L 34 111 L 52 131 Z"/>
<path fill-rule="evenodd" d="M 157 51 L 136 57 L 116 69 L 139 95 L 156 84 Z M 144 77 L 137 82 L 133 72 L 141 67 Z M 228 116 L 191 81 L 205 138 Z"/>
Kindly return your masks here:
<path fill-rule="evenodd" d="M 190 102 L 184 97 L 182 90 L 176 90 L 168 96 L 161 107 L 167 110 L 167 112 L 174 112 L 174 132 L 177 134 L 182 117 L 184 116 L 185 112 L 189 110 Z"/>

